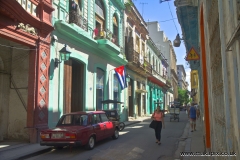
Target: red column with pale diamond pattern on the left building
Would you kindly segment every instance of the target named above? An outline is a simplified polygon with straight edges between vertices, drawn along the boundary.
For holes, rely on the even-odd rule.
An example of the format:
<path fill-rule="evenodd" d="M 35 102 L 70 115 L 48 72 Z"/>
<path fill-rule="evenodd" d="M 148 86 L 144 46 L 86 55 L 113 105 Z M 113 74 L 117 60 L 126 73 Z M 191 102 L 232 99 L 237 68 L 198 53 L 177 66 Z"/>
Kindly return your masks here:
<path fill-rule="evenodd" d="M 39 142 L 39 132 L 48 128 L 49 46 L 39 43 L 29 54 L 27 128 L 31 143 Z"/>

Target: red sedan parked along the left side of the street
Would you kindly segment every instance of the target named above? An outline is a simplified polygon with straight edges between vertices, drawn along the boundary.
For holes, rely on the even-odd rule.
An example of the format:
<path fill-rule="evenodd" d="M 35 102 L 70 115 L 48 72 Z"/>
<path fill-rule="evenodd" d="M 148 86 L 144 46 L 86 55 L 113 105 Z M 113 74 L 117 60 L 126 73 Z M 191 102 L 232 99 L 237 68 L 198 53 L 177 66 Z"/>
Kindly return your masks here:
<path fill-rule="evenodd" d="M 93 149 L 95 142 L 119 137 L 118 127 L 104 111 L 74 112 L 63 115 L 56 128 L 40 132 L 41 146 L 83 146 Z"/>

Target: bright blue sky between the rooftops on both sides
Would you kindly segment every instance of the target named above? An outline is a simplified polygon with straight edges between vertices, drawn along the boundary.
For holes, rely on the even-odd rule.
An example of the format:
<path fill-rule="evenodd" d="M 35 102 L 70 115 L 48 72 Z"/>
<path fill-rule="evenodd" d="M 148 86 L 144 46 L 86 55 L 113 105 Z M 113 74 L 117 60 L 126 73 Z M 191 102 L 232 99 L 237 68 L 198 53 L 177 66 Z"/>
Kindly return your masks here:
<path fill-rule="evenodd" d="M 137 7 L 139 13 L 144 18 L 145 22 L 158 21 L 160 24 L 160 30 L 164 31 L 165 35 L 172 42 L 179 33 L 182 37 L 181 26 L 178 23 L 176 7 L 174 6 L 174 0 L 160 3 L 160 0 L 132 0 Z M 174 19 L 173 19 L 174 18 Z M 174 23 L 175 22 L 175 23 Z M 190 71 L 187 61 L 184 59 L 186 56 L 186 48 L 184 42 L 181 42 L 180 47 L 174 47 L 175 54 L 177 56 L 177 65 L 183 65 L 186 72 L 186 81 L 189 84 L 188 90 L 190 90 Z"/>

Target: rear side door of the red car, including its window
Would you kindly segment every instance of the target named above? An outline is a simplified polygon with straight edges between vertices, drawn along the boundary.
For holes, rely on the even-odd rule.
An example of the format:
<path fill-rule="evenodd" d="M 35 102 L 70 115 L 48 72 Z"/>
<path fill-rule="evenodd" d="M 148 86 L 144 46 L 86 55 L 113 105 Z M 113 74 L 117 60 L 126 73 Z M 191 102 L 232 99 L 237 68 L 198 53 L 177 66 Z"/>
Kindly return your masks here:
<path fill-rule="evenodd" d="M 105 138 L 105 124 L 101 122 L 100 114 L 92 115 L 92 126 L 96 134 L 96 140 Z"/>

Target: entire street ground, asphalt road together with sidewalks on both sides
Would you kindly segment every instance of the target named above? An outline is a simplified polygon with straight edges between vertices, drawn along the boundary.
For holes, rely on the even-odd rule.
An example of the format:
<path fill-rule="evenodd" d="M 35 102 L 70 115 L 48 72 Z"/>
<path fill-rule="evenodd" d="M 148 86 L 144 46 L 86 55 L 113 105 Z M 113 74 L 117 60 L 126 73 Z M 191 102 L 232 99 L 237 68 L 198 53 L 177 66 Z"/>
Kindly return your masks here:
<path fill-rule="evenodd" d="M 39 144 L 0 142 L 0 159 L 177 160 L 184 158 L 195 160 L 202 158 L 180 156 L 182 151 L 202 152 L 201 126 L 197 125 L 197 131 L 192 133 L 189 131 L 189 122 L 185 112 L 181 112 L 179 122 L 170 122 L 169 117 L 170 115 L 166 114 L 164 118 L 166 127 L 162 130 L 162 144 L 160 146 L 155 143 L 154 131 L 149 128 L 150 117 L 139 117 L 125 122 L 126 128 L 120 132 L 119 139 L 109 138 L 98 142 L 91 151 L 87 151 L 83 147 L 72 150 L 69 148 L 55 150 Z"/>

